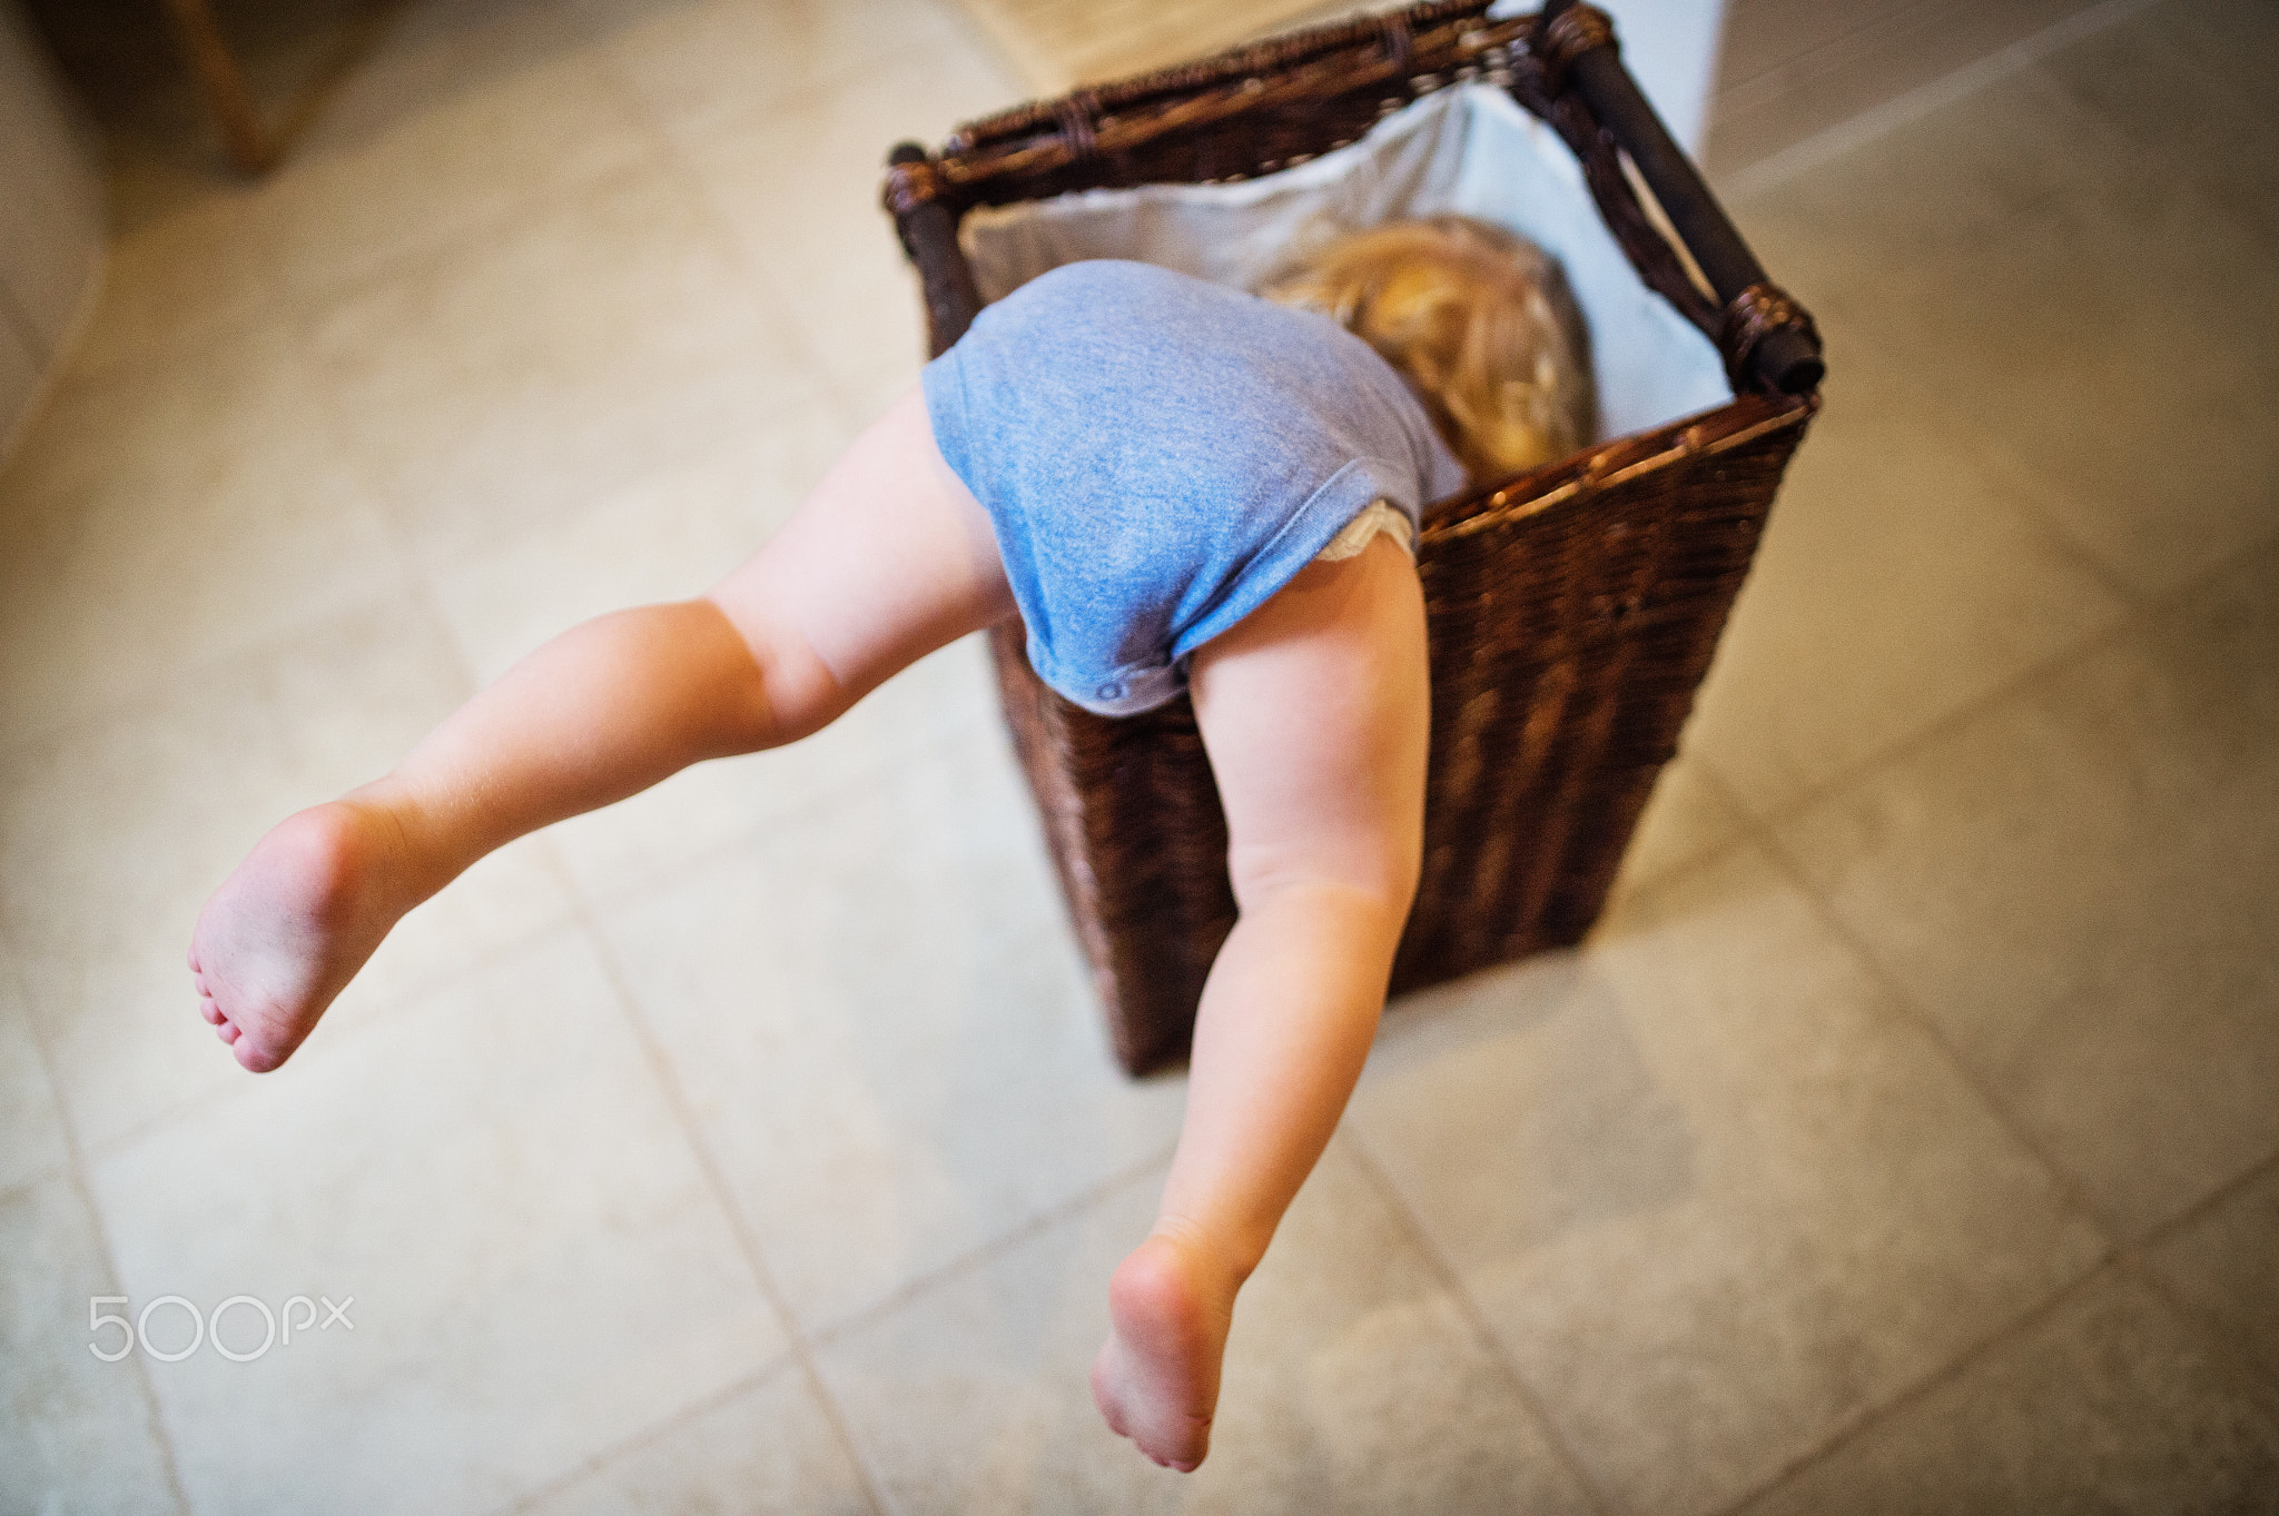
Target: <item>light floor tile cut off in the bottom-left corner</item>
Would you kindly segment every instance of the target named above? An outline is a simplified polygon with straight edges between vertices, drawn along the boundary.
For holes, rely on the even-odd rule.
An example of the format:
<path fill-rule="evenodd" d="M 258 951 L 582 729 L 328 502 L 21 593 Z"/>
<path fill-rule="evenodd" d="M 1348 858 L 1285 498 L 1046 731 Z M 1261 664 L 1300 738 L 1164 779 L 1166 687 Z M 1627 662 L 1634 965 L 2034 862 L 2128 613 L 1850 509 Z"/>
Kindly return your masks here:
<path fill-rule="evenodd" d="M 141 1366 L 103 1363 L 116 1295 L 103 1236 L 68 1177 L 0 1200 L 0 1493 L 9 1509 L 141 1516 L 180 1511 Z"/>

